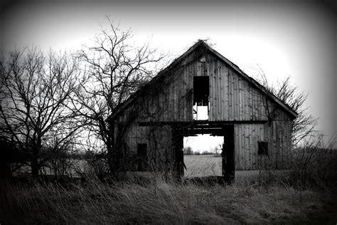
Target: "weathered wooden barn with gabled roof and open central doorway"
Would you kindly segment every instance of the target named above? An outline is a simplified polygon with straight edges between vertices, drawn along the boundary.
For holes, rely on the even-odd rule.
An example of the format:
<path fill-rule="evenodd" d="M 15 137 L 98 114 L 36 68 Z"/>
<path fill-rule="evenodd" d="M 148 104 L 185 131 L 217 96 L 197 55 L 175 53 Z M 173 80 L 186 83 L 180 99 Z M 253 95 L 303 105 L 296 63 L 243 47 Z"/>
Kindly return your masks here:
<path fill-rule="evenodd" d="M 128 171 L 182 174 L 183 137 L 224 137 L 223 175 L 287 169 L 297 113 L 198 41 L 119 105 L 108 121 Z"/>

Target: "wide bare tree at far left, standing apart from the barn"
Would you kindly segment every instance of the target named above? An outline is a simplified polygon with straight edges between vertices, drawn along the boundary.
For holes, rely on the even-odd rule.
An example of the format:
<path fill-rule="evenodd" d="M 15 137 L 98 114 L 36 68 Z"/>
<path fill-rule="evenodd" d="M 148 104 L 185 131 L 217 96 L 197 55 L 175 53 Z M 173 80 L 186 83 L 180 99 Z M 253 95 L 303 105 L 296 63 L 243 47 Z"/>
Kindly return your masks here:
<path fill-rule="evenodd" d="M 43 164 L 48 140 L 57 148 L 73 138 L 80 126 L 69 110 L 78 88 L 77 62 L 63 53 L 47 56 L 37 48 L 15 51 L 0 62 L 1 136 L 28 155 L 31 173 Z"/>

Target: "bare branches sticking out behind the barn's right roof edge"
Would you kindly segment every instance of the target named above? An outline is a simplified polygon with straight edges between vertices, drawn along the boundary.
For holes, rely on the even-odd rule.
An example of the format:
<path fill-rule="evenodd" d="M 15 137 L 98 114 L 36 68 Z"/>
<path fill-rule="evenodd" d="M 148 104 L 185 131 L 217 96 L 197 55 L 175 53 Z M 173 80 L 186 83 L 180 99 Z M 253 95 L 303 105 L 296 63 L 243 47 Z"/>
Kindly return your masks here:
<path fill-rule="evenodd" d="M 315 130 L 317 119 L 308 112 L 308 108 L 305 106 L 308 93 L 299 91 L 299 88 L 296 87 L 296 85 L 291 84 L 290 77 L 277 82 L 276 85 L 272 85 L 267 80 L 267 76 L 263 72 L 262 68 L 259 67 L 259 70 L 260 78 L 257 78 L 257 80 L 259 80 L 264 88 L 298 113 L 298 116 L 292 123 L 293 145 L 299 145 L 299 143 L 306 137 L 317 135 Z"/>

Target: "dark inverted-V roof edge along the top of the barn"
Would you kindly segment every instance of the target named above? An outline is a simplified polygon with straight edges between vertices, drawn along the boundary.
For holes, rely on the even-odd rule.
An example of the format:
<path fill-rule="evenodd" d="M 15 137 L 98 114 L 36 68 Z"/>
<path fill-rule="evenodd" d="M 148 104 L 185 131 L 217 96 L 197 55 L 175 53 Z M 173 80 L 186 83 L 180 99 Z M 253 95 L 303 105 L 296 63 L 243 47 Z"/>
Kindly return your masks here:
<path fill-rule="evenodd" d="M 217 58 L 219 58 L 220 61 L 223 61 L 225 64 L 230 66 L 230 68 L 232 68 L 237 73 L 239 73 L 243 78 L 248 80 L 248 82 L 250 82 L 252 85 L 254 85 L 258 90 L 261 90 L 262 93 L 267 95 L 270 99 L 274 100 L 275 103 L 277 103 L 279 106 L 284 108 L 284 110 L 286 110 L 286 112 L 288 112 L 289 115 L 291 115 L 294 118 L 298 116 L 297 112 L 292 110 L 289 105 L 284 103 L 282 100 L 279 100 L 275 95 L 270 93 L 266 88 L 264 88 L 264 86 L 262 86 L 260 83 L 258 83 L 255 79 L 251 78 L 249 75 L 247 75 L 245 72 L 243 72 L 238 66 L 236 66 L 234 63 L 232 63 L 227 58 L 225 58 L 220 53 L 218 53 L 218 51 L 215 51 L 213 48 L 210 48 L 210 46 L 208 46 L 208 44 L 205 43 L 205 41 L 199 40 L 191 48 L 188 48 L 188 51 L 183 53 L 183 55 L 181 55 L 180 57 L 176 58 L 169 66 L 167 66 L 166 68 L 164 68 L 164 70 L 161 70 L 156 76 L 154 76 L 154 78 L 152 78 L 152 80 L 149 83 L 146 83 L 146 85 L 144 85 L 144 87 L 140 88 L 134 94 L 132 94 L 124 103 L 121 103 L 121 104 L 117 105 L 117 107 L 114 109 L 112 114 L 109 115 L 107 120 L 111 120 L 116 115 L 118 115 L 119 112 L 122 112 L 122 110 L 124 110 L 124 108 L 126 108 L 127 105 L 132 103 L 139 95 L 141 95 L 141 93 L 143 93 L 144 90 L 149 88 L 153 83 L 156 82 L 156 80 L 159 80 L 159 78 L 161 78 L 163 75 L 165 75 L 167 71 L 171 70 L 171 68 L 178 65 L 178 63 L 181 63 L 181 61 L 183 61 L 184 58 L 186 58 L 188 55 L 190 55 L 190 53 L 192 53 L 193 51 L 196 50 L 196 48 L 199 48 L 199 47 L 203 47 L 203 48 L 205 48 L 206 51 L 209 51 L 210 53 L 213 53 L 213 55 L 215 55 Z"/>

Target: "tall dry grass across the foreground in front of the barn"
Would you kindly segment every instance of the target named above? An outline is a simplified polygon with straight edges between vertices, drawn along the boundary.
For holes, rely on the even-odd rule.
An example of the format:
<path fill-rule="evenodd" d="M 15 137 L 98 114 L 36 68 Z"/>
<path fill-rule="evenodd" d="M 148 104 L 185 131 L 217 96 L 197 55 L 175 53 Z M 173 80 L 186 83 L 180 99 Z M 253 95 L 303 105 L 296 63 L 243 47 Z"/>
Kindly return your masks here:
<path fill-rule="evenodd" d="M 1 224 L 336 223 L 336 195 L 279 184 L 1 183 Z"/>

